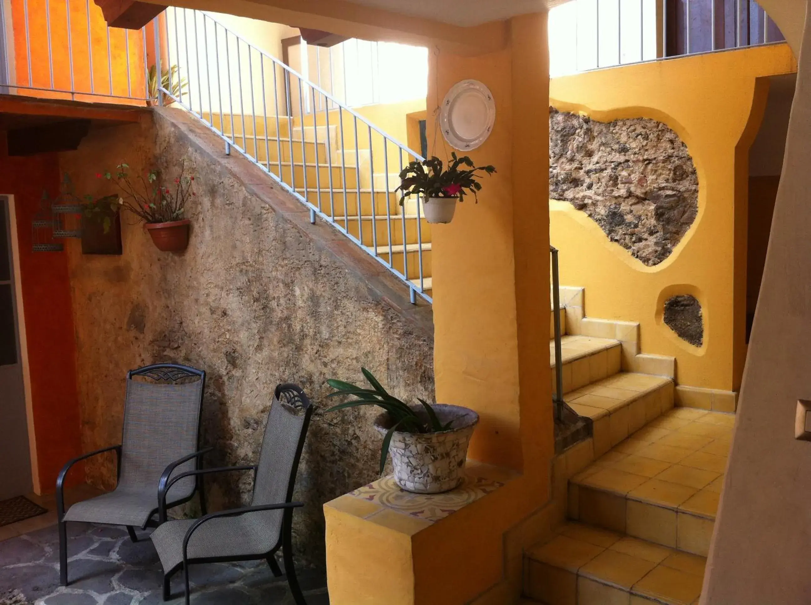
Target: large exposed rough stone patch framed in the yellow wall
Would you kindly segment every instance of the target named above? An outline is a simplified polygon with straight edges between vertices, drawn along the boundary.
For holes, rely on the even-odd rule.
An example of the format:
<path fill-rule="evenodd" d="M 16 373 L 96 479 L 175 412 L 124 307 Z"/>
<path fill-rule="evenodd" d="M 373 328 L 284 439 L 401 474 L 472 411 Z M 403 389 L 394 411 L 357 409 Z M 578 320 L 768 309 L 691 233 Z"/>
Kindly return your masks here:
<path fill-rule="evenodd" d="M 687 147 L 646 118 L 599 122 L 549 109 L 549 197 L 570 202 L 647 266 L 670 256 L 698 210 Z"/>

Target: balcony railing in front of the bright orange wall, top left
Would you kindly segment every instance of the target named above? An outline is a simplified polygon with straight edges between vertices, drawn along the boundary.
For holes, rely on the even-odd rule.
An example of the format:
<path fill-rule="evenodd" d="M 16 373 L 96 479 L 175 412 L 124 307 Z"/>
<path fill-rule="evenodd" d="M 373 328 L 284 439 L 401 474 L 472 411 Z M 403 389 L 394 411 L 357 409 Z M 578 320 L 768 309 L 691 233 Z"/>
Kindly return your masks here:
<path fill-rule="evenodd" d="M 0 0 L 0 92 L 144 104 L 147 37 L 108 28 L 91 0 Z"/>

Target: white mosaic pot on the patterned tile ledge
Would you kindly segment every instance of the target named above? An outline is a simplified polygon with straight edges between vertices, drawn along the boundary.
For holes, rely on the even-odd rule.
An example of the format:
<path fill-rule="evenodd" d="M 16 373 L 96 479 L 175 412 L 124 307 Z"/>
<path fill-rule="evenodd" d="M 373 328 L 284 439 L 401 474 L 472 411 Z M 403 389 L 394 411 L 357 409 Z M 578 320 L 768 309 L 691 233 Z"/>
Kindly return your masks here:
<path fill-rule="evenodd" d="M 388 448 L 392 456 L 394 480 L 407 492 L 436 494 L 459 487 L 465 479 L 467 446 L 478 414 L 467 407 L 438 403 L 433 406 L 440 423 L 453 420 L 451 428 L 442 432 L 395 431 Z M 423 408 L 414 408 L 426 418 Z M 375 428 L 382 435 L 391 427 L 388 413 L 375 419 Z"/>

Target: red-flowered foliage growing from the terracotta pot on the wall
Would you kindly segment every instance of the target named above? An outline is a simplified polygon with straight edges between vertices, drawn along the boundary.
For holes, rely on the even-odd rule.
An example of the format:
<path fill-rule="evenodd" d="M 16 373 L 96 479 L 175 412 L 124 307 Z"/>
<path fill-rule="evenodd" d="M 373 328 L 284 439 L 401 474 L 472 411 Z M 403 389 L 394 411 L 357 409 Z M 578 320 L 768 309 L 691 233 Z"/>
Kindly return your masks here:
<path fill-rule="evenodd" d="M 187 173 L 185 161 L 181 161 L 174 186 L 165 185 L 161 171 L 146 170 L 134 177 L 129 164 L 118 164 L 114 172 L 96 173 L 118 186 L 121 195 L 118 206 L 130 211 L 144 223 L 169 223 L 183 218 L 186 204 L 196 196 L 193 191 L 195 177 Z"/>

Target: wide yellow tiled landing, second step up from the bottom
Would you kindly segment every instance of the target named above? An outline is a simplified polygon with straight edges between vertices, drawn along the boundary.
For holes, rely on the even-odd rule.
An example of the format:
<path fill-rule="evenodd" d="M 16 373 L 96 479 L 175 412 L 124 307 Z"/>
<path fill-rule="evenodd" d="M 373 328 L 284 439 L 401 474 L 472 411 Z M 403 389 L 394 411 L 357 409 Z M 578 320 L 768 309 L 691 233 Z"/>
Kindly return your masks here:
<path fill-rule="evenodd" d="M 569 518 L 706 556 L 734 418 L 667 411 L 569 480 Z"/>

